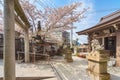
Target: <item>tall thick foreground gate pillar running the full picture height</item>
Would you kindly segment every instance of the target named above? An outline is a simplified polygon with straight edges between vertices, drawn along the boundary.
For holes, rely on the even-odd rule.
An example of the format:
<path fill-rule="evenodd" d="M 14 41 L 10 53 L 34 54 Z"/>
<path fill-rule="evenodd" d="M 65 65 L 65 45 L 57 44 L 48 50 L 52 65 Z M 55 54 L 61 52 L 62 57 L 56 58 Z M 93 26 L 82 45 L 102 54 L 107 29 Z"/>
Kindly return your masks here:
<path fill-rule="evenodd" d="M 4 0 L 4 80 L 15 80 L 14 0 Z"/>

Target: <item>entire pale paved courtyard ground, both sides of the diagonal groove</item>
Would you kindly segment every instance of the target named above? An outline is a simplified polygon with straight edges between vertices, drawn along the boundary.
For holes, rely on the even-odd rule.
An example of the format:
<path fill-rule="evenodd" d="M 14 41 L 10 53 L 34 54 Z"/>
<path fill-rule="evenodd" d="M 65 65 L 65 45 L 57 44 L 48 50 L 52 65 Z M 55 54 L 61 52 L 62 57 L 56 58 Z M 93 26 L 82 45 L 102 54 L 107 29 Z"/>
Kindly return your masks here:
<path fill-rule="evenodd" d="M 40 77 L 40 80 L 92 80 L 87 72 L 87 60 L 73 56 L 74 62 L 67 63 L 63 57 L 55 56 L 51 61 L 36 63 L 16 63 L 17 77 Z M 108 72 L 111 80 L 120 80 L 120 67 L 112 67 Z M 0 77 L 3 77 L 3 61 L 0 60 Z M 39 79 L 38 79 L 39 80 Z"/>

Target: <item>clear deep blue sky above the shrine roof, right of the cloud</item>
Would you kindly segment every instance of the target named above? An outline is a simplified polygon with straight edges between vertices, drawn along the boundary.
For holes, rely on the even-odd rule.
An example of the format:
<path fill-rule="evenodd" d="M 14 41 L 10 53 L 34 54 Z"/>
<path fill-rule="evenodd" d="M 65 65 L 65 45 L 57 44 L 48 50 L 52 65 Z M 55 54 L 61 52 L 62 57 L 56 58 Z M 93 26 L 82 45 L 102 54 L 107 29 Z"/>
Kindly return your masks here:
<path fill-rule="evenodd" d="M 120 0 L 94 0 L 93 5 L 96 11 L 96 20 L 98 21 L 102 16 L 120 9 Z"/>

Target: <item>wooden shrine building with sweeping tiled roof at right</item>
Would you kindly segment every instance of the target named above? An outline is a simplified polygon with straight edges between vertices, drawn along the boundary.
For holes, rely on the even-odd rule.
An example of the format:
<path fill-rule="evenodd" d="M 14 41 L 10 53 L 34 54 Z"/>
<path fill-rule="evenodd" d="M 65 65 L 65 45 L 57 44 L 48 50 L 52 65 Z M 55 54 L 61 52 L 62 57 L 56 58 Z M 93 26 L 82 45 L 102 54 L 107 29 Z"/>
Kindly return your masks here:
<path fill-rule="evenodd" d="M 89 51 L 91 40 L 98 39 L 104 49 L 110 51 L 110 56 L 116 58 L 117 66 L 120 66 L 120 10 L 102 17 L 98 24 L 77 34 L 88 35 Z"/>

